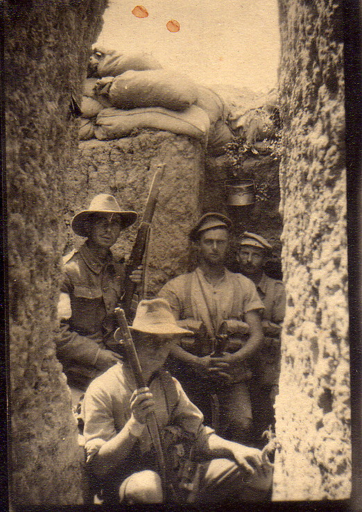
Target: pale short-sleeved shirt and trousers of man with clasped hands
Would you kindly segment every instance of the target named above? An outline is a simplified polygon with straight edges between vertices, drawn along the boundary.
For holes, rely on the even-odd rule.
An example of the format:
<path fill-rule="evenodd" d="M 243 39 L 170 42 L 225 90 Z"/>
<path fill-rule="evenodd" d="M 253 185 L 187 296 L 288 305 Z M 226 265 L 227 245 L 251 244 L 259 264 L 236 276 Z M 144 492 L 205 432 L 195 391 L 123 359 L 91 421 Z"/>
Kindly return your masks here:
<path fill-rule="evenodd" d="M 159 296 L 169 302 L 175 318 L 182 321 L 180 325 L 190 328 L 195 320 L 202 321 L 205 325 L 208 336 L 202 341 L 185 337 L 180 343 L 184 350 L 199 357 L 212 353 L 215 348 L 212 345 L 214 332 L 218 331 L 223 321 L 226 321 L 229 334 L 226 351 L 239 350 L 248 340 L 248 325 L 243 322 L 243 314 L 264 308 L 255 284 L 243 275 L 231 273 L 226 268 L 223 278 L 217 284 L 209 283 L 201 269 L 197 268 L 192 273 L 180 275 L 166 283 Z M 214 329 L 210 325 L 210 320 L 214 323 Z M 207 380 L 198 377 L 180 361 L 175 362 L 170 368 L 184 386 L 187 395 L 201 408 L 207 421 L 211 420 L 206 398 L 210 391 Z M 234 382 L 219 385 L 216 391 L 220 404 L 222 431 L 226 431 L 234 420 L 252 418 L 247 384 L 248 378 L 251 377 L 250 368 L 247 364 L 241 363 L 239 369 L 239 378 L 236 373 Z"/>

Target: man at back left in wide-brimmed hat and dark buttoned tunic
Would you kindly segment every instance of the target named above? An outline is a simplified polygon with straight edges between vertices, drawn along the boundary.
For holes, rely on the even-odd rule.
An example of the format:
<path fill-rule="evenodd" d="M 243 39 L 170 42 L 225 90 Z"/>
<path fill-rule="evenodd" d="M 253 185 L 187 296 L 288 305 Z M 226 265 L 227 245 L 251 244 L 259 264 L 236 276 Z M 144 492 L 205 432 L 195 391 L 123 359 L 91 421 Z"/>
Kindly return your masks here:
<path fill-rule="evenodd" d="M 98 194 L 71 221 L 72 230 L 86 241 L 63 259 L 57 356 L 75 402 L 96 375 L 121 359 L 109 343 L 117 328 L 114 308 L 123 293 L 124 259 L 114 257 L 110 247 L 136 219 L 137 213 L 121 210 L 113 196 Z M 132 280 L 140 278 L 135 271 Z"/>

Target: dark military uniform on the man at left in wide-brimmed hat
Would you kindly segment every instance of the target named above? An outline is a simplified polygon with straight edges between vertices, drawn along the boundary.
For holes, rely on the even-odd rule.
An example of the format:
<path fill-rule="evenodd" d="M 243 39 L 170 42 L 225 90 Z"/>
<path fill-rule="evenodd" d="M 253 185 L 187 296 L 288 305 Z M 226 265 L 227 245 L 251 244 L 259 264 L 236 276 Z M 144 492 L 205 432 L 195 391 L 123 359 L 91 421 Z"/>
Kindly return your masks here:
<path fill-rule="evenodd" d="M 64 257 L 61 292 L 70 298 L 71 316 L 60 321 L 57 356 L 68 383 L 85 390 L 102 372 L 96 362 L 101 349 L 114 346 L 114 308 L 123 293 L 124 259 L 111 252 L 100 259 L 87 243 Z"/>

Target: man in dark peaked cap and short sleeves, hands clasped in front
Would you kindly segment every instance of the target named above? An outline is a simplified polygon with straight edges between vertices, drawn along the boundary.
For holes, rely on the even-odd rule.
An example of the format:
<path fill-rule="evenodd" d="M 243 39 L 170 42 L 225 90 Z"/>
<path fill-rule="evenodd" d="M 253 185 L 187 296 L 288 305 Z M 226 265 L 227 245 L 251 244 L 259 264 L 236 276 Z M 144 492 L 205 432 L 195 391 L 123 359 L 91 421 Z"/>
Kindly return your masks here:
<path fill-rule="evenodd" d="M 189 235 L 200 259 L 196 271 L 166 283 L 159 296 L 168 300 L 180 325 L 196 330 L 171 349 L 172 371 L 205 415 L 211 406 L 218 432 L 245 441 L 252 422 L 248 359 L 263 339 L 264 306 L 251 280 L 225 268 L 230 228 L 224 215 L 202 216 Z"/>

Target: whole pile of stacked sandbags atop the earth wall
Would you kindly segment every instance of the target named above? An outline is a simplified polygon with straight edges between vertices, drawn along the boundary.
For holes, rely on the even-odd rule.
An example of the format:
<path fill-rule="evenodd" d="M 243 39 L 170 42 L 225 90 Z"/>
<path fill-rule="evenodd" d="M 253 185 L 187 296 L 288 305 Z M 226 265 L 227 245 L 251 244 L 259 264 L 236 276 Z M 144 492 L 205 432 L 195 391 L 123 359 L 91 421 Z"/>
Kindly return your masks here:
<path fill-rule="evenodd" d="M 223 100 L 185 75 L 162 69 L 146 53 L 125 55 L 96 47 L 81 104 L 80 140 L 127 137 L 152 128 L 194 137 L 211 154 L 232 139 Z"/>

